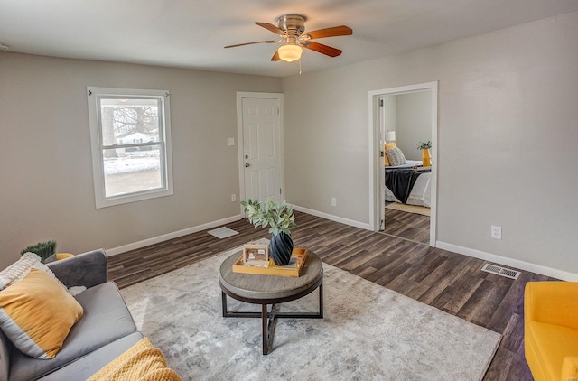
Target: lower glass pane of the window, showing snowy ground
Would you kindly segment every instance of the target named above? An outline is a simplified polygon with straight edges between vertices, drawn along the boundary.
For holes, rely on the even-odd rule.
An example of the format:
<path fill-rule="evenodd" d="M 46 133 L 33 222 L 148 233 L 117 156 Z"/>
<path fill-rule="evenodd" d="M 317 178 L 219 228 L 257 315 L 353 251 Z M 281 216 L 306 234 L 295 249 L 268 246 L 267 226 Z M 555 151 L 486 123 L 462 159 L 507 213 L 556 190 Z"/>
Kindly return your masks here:
<path fill-rule="evenodd" d="M 158 145 L 103 150 L 105 197 L 165 187 Z"/>

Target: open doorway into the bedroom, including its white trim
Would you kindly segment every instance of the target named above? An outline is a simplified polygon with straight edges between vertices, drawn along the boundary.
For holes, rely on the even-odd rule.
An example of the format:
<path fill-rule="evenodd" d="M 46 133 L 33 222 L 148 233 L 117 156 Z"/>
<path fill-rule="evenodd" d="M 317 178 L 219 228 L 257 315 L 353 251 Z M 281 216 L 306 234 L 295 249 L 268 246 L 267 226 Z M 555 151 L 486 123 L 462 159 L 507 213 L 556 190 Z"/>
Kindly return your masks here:
<path fill-rule="evenodd" d="M 435 246 L 437 82 L 371 91 L 369 116 L 373 230 Z"/>

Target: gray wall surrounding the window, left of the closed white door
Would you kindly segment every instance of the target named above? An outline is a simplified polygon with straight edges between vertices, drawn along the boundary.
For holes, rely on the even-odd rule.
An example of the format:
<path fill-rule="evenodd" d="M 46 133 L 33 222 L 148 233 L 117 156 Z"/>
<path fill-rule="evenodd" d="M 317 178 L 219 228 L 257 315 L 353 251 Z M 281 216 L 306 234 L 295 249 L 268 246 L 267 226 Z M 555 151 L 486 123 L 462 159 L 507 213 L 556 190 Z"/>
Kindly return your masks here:
<path fill-rule="evenodd" d="M 174 195 L 95 209 L 87 86 L 171 91 Z M 276 78 L 0 52 L 0 268 L 23 247 L 118 247 L 238 216 L 237 91 Z"/>

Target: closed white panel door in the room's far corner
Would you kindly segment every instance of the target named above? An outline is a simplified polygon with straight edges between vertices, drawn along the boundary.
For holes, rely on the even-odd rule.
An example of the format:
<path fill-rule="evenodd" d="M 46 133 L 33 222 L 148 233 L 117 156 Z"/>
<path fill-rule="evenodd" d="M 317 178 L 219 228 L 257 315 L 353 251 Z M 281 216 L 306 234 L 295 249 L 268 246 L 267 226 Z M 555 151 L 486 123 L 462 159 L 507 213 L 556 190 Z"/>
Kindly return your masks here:
<path fill-rule="evenodd" d="M 243 158 L 246 199 L 280 200 L 279 100 L 243 98 Z"/>

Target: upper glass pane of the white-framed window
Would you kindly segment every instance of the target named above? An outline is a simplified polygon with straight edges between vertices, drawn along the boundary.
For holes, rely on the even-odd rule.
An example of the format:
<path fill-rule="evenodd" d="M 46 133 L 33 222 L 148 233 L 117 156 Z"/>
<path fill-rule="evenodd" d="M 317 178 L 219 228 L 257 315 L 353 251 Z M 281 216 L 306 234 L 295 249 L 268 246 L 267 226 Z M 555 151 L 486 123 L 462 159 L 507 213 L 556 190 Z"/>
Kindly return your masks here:
<path fill-rule="evenodd" d="M 158 98 L 100 98 L 102 144 L 159 141 Z"/>

